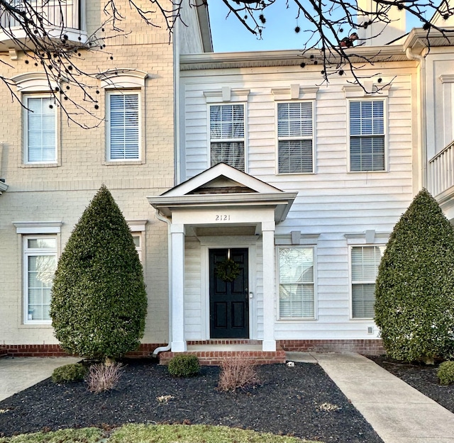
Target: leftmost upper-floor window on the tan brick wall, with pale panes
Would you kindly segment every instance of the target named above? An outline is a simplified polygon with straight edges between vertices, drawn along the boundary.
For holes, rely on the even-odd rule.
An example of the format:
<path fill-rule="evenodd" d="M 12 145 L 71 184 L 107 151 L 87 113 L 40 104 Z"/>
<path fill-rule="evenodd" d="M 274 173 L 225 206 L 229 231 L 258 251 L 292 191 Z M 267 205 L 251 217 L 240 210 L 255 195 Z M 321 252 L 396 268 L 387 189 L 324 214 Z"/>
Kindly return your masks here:
<path fill-rule="evenodd" d="M 50 96 L 24 96 L 25 163 L 57 161 L 57 114 Z"/>

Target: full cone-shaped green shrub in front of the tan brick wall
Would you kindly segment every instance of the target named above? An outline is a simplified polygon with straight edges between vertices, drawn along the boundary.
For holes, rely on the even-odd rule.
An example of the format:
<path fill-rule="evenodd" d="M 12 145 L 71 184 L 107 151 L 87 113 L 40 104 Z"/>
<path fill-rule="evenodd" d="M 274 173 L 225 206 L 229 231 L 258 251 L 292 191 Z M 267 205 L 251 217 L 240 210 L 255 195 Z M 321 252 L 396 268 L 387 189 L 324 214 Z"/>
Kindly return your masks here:
<path fill-rule="evenodd" d="M 72 354 L 119 357 L 138 347 L 146 308 L 131 231 L 103 185 L 58 262 L 50 305 L 55 337 Z"/>

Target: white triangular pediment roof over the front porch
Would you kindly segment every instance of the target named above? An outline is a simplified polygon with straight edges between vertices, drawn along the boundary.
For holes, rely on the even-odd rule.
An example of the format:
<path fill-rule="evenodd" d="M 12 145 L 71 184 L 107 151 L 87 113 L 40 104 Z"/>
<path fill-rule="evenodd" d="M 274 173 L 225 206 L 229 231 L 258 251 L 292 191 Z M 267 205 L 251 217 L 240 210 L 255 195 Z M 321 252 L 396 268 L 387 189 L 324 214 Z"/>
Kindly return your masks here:
<path fill-rule="evenodd" d="M 275 222 L 285 219 L 297 192 L 275 186 L 219 163 L 160 196 L 148 197 L 150 204 L 170 218 L 174 211 L 241 208 L 254 211 L 272 208 Z"/>

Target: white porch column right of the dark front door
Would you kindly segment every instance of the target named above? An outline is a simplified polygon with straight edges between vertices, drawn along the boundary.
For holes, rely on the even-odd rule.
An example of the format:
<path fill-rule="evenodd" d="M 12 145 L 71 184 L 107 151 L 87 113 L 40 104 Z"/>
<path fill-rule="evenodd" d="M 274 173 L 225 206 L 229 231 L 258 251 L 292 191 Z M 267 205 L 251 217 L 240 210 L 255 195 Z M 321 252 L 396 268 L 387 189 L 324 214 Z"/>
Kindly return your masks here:
<path fill-rule="evenodd" d="M 275 222 L 262 223 L 263 351 L 275 351 Z"/>

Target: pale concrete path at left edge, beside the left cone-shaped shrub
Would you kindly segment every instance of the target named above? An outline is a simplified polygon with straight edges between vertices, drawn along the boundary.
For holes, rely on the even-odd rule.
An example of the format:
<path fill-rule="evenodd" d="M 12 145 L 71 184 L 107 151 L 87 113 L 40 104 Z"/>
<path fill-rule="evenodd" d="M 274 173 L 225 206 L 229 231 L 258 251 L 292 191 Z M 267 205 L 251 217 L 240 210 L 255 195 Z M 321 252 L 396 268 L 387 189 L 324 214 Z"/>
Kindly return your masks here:
<path fill-rule="evenodd" d="M 50 377 L 58 366 L 80 360 L 76 357 L 1 357 L 0 401 Z"/>

